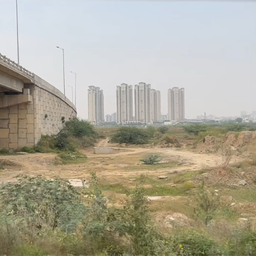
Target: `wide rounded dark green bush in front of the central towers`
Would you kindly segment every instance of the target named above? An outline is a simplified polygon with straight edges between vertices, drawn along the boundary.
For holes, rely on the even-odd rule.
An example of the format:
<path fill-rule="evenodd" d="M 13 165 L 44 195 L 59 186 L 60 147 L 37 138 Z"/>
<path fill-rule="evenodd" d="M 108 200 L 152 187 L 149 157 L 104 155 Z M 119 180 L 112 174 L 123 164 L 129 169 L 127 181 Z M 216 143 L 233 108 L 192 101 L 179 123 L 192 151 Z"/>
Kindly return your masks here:
<path fill-rule="evenodd" d="M 111 136 L 111 143 L 146 144 L 148 132 L 137 127 L 121 127 Z"/>

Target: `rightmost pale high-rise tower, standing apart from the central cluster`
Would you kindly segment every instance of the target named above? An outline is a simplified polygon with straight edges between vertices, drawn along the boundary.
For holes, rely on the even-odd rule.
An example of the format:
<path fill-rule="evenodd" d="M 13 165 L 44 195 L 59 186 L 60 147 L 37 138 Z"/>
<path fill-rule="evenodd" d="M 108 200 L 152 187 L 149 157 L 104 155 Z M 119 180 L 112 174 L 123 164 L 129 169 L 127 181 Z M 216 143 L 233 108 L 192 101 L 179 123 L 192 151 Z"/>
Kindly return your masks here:
<path fill-rule="evenodd" d="M 168 90 L 168 119 L 185 120 L 184 88 L 173 87 Z"/>

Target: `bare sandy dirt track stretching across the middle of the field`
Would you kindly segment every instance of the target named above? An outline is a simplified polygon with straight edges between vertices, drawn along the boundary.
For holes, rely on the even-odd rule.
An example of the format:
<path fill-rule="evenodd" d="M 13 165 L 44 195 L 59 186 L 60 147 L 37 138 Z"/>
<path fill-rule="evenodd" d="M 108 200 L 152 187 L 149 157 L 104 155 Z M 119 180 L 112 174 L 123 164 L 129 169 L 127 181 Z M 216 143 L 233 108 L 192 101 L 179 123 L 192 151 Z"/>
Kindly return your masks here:
<path fill-rule="evenodd" d="M 108 139 L 102 140 L 97 147 L 108 147 Z M 113 145 L 111 145 L 113 147 Z M 161 170 L 150 170 L 150 175 L 168 174 L 173 171 L 181 170 L 201 170 L 202 168 L 211 168 L 221 163 L 221 156 L 214 154 L 196 154 L 186 150 L 177 150 L 175 148 L 140 148 L 127 147 L 118 148 L 114 145 L 114 154 L 95 155 L 92 148 L 84 150 L 84 154 L 88 156 L 88 161 L 82 164 L 54 165 L 56 154 L 26 154 L 19 156 L 0 156 L 0 159 L 9 159 L 18 164 L 17 166 L 8 166 L 7 170 L 0 170 L 0 182 L 15 180 L 17 175 L 44 175 L 45 177 L 63 177 L 65 179 L 81 179 L 90 176 L 90 172 L 99 173 L 99 177 L 108 180 L 118 180 L 119 177 L 129 177 L 132 175 L 140 175 L 140 173 L 148 172 L 147 167 L 141 170 L 134 165 L 134 159 L 147 153 L 159 153 L 164 157 L 175 157 L 180 160 L 182 166 L 174 168 L 166 168 Z M 115 160 L 109 161 L 115 157 Z M 106 161 L 109 161 L 106 163 Z M 125 162 L 126 161 L 126 162 Z M 242 157 L 234 157 L 231 163 L 243 161 Z M 125 163 L 125 164 L 124 164 Z M 127 170 L 122 166 L 133 164 L 131 170 Z M 108 167 L 108 168 L 107 168 Z"/>

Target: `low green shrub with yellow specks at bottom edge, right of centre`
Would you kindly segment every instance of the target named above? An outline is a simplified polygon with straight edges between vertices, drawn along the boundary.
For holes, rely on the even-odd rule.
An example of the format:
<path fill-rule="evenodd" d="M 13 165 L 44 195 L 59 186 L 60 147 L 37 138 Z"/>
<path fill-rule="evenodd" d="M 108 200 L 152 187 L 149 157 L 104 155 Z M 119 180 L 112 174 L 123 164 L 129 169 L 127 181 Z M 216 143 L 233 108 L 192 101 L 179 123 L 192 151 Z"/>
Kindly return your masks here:
<path fill-rule="evenodd" d="M 184 256 L 217 256 L 222 255 L 212 239 L 195 230 L 186 230 L 172 237 L 173 252 Z"/>

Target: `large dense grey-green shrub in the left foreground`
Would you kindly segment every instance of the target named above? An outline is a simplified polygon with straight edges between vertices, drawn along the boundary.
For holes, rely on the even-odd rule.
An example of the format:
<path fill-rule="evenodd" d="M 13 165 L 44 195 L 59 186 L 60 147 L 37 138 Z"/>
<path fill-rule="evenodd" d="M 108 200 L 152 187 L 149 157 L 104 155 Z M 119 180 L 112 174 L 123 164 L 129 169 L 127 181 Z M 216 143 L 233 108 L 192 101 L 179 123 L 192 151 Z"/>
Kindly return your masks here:
<path fill-rule="evenodd" d="M 22 218 L 29 228 L 48 225 L 74 230 L 85 211 L 76 189 L 61 179 L 22 177 L 17 183 L 3 185 L 0 195 L 6 214 Z"/>

